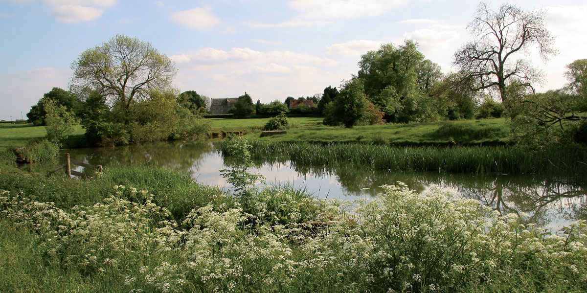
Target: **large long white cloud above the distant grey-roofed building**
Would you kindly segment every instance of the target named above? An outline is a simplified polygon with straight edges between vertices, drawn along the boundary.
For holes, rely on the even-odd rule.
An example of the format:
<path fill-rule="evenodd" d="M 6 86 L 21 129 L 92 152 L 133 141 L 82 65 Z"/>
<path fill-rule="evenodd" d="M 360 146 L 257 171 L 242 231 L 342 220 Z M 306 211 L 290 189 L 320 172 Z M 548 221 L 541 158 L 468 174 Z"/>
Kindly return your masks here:
<path fill-rule="evenodd" d="M 234 97 L 247 91 L 254 100 L 268 103 L 322 92 L 349 78 L 349 71 L 340 69 L 346 64 L 288 50 L 203 48 L 171 58 L 179 69 L 176 86 L 210 97 Z"/>

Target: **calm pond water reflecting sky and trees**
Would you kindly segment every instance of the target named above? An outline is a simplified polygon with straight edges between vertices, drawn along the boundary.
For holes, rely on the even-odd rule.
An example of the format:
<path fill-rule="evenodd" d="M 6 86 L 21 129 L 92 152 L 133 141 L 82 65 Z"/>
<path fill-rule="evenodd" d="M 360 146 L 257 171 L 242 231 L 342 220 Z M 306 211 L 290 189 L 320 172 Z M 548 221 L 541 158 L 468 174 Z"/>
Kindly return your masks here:
<path fill-rule="evenodd" d="M 72 159 L 108 166 L 151 164 L 189 174 L 209 186 L 230 190 L 220 175 L 224 158 L 214 143 L 154 143 L 143 146 L 65 150 Z M 271 162 L 271 163 L 269 163 Z M 507 174 L 472 175 L 438 173 L 392 173 L 386 170 L 348 168 L 343 164 L 299 166 L 281 154 L 258 158 L 252 173 L 265 176 L 267 184 L 305 187 L 319 198 L 353 200 L 372 197 L 379 186 L 406 183 L 419 192 L 436 184 L 454 188 L 501 213 L 526 213 L 529 222 L 552 232 L 575 220 L 587 220 L 587 184 L 564 178 L 535 178 Z M 334 166 L 333 166 L 334 165 Z M 81 167 L 77 171 L 83 171 Z"/>

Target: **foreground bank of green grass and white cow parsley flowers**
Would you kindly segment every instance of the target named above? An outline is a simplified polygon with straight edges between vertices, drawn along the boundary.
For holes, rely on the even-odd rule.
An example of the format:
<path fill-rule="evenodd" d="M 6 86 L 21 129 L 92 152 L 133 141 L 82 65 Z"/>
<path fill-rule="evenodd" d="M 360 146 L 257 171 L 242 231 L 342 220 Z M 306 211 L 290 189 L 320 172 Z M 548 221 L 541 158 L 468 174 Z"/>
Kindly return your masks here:
<path fill-rule="evenodd" d="M 2 292 L 587 290 L 584 221 L 546 237 L 444 190 L 387 187 L 347 213 L 299 191 L 230 197 L 149 167 L 2 175 Z"/>

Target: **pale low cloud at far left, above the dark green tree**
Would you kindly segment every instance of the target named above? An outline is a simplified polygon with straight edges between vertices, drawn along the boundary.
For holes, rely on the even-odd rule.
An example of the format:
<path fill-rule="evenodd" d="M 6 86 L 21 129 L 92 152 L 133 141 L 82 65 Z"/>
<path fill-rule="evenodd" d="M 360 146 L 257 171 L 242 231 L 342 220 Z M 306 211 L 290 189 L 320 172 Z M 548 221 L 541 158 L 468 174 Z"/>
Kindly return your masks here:
<path fill-rule="evenodd" d="M 9 116 L 20 119 L 21 112 L 26 117 L 31 106 L 44 93 L 55 86 L 68 89 L 71 75 L 72 70 L 61 68 L 38 68 L 0 75 L 0 88 L 4 90 L 0 119 L 8 120 Z"/>

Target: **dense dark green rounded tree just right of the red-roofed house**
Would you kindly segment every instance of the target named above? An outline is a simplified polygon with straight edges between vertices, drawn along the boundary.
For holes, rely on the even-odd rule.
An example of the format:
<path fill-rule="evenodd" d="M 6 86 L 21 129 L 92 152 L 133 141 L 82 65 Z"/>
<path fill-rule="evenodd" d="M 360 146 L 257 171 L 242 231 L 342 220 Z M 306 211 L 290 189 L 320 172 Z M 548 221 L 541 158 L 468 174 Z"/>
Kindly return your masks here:
<path fill-rule="evenodd" d="M 343 124 L 347 128 L 353 127 L 367 109 L 363 80 L 355 78 L 346 81 L 339 95 L 336 96 L 333 106 L 327 104 L 326 108 L 324 124 Z"/>

